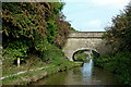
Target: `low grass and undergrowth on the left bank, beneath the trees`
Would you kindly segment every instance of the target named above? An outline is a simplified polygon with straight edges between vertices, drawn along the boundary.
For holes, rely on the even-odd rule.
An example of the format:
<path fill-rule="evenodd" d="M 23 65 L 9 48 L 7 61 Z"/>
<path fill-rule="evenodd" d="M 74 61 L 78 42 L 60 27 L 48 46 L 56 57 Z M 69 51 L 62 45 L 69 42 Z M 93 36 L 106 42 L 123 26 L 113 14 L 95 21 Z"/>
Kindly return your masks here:
<path fill-rule="evenodd" d="M 37 82 L 38 79 L 50 76 L 55 73 L 67 71 L 69 69 L 82 65 L 81 63 L 74 63 L 66 59 L 63 52 L 59 48 L 52 45 L 51 45 L 51 49 L 48 49 L 48 51 L 45 52 L 45 58 L 50 60 L 48 62 L 44 62 L 41 58 L 39 58 L 38 55 L 34 55 L 34 58 L 27 59 L 25 63 L 21 64 L 20 67 L 17 67 L 15 64 L 12 65 L 13 63 L 12 59 L 10 60 L 8 59 L 8 61 L 3 60 L 4 63 L 3 64 L 4 69 L 2 71 L 3 76 L 16 74 L 17 72 L 21 71 L 28 71 L 28 70 L 36 70 L 36 71 L 28 71 L 24 74 L 4 78 L 2 79 L 2 84 L 27 85 L 31 84 L 32 82 Z M 8 67 L 5 69 L 5 66 Z M 37 70 L 38 67 L 44 67 L 44 66 L 49 66 L 49 67 Z"/>

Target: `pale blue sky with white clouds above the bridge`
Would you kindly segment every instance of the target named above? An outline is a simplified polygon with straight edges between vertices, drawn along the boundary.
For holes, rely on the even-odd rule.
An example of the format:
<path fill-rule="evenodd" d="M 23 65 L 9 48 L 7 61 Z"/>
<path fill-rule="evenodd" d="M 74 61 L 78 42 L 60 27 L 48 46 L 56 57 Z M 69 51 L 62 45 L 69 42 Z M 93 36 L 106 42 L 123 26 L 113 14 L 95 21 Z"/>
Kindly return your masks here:
<path fill-rule="evenodd" d="M 63 0 L 62 0 L 63 1 Z M 63 14 L 81 32 L 104 32 L 130 0 L 64 0 Z"/>

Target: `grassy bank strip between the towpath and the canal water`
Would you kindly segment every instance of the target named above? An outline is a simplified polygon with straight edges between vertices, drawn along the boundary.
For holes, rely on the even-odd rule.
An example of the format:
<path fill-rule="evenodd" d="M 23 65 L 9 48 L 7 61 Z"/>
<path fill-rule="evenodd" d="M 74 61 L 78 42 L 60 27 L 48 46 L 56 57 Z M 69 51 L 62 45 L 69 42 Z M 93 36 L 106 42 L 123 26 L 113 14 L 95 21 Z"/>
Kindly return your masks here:
<path fill-rule="evenodd" d="M 45 77 L 52 76 L 58 72 L 63 72 L 72 67 L 79 67 L 81 65 L 82 63 L 73 63 L 70 61 L 66 61 L 66 63 L 61 65 L 49 65 L 41 70 L 27 71 L 23 74 L 7 77 L 2 79 L 2 85 L 27 85 Z"/>

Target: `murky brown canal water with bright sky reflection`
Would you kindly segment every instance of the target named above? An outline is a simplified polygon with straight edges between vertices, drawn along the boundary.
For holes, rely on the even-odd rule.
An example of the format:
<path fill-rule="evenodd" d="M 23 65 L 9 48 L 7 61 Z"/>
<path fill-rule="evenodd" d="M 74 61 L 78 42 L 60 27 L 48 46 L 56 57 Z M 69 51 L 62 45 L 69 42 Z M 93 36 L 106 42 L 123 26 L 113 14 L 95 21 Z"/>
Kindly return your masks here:
<path fill-rule="evenodd" d="M 93 66 L 91 59 L 83 67 L 53 74 L 32 85 L 119 85 L 119 83 L 112 73 Z"/>

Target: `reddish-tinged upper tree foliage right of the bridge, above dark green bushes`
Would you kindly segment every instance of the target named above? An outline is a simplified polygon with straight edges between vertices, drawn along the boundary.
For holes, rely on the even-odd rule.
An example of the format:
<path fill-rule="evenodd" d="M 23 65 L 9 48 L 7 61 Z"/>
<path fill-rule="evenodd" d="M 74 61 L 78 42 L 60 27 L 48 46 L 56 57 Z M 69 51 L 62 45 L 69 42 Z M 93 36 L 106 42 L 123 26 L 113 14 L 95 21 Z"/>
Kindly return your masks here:
<path fill-rule="evenodd" d="M 131 50 L 131 2 L 123 12 L 112 18 L 112 25 L 106 27 L 104 36 L 112 47 L 112 53 Z"/>

